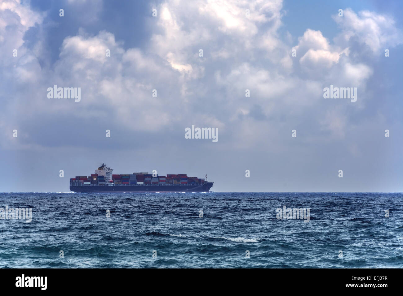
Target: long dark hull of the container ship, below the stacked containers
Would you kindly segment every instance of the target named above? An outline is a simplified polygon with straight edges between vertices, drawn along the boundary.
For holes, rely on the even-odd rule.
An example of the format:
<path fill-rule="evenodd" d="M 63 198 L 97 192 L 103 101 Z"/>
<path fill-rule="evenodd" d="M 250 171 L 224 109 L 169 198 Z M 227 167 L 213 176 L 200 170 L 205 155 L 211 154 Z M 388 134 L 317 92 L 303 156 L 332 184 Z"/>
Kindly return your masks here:
<path fill-rule="evenodd" d="M 70 186 L 70 191 L 86 192 L 208 192 L 213 182 L 204 185 L 114 185 L 114 186 Z"/>

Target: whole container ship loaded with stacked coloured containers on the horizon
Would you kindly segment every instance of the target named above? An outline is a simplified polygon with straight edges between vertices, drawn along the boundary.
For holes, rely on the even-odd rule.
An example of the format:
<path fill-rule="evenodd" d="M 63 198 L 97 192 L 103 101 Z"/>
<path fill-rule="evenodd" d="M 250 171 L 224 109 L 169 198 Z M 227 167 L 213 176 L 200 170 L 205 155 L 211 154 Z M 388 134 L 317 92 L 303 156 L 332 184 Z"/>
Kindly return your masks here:
<path fill-rule="evenodd" d="M 149 173 L 113 175 L 113 169 L 101 164 L 91 176 L 70 179 L 70 191 L 74 192 L 208 192 L 213 182 L 186 174 L 160 176 Z"/>

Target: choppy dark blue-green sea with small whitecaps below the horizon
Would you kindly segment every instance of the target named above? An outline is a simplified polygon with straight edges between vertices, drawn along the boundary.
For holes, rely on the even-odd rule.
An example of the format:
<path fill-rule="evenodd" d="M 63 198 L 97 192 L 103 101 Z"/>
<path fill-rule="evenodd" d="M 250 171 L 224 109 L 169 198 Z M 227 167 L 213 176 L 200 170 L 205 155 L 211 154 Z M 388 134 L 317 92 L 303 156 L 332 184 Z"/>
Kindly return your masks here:
<path fill-rule="evenodd" d="M 403 193 L 0 193 L 0 267 L 403 267 L 402 200 Z"/>

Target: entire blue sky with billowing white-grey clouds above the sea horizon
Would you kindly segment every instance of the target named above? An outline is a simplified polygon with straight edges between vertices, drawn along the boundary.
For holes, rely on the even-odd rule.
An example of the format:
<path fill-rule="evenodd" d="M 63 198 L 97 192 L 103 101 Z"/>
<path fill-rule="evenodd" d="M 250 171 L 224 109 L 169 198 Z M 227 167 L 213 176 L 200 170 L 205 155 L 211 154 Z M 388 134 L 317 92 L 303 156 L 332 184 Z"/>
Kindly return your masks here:
<path fill-rule="evenodd" d="M 0 192 L 69 192 L 102 162 L 216 192 L 402 192 L 402 8 L 1 0 Z"/>

